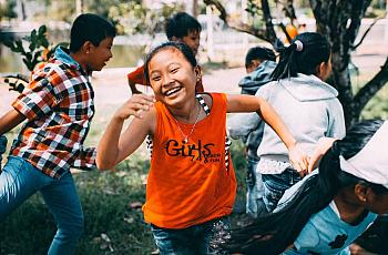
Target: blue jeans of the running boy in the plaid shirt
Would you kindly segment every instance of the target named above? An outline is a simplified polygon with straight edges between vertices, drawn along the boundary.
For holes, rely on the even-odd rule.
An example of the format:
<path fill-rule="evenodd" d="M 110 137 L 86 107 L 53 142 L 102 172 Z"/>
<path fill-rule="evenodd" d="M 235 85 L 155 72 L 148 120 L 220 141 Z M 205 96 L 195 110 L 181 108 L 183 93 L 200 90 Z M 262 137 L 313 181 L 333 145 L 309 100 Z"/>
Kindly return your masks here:
<path fill-rule="evenodd" d="M 25 160 L 9 156 L 0 174 L 0 222 L 38 191 L 58 227 L 48 254 L 72 254 L 83 232 L 83 213 L 70 172 L 55 180 Z"/>

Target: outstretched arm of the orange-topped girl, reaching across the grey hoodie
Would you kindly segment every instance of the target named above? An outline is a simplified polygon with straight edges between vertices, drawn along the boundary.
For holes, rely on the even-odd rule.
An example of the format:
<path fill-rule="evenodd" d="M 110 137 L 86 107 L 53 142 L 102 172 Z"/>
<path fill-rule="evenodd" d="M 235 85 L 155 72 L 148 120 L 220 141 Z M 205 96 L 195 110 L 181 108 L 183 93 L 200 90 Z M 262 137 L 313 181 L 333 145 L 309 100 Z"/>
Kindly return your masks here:
<path fill-rule="evenodd" d="M 227 112 L 257 112 L 262 120 L 276 132 L 287 146 L 289 161 L 294 167 L 300 175 L 307 173 L 307 156 L 299 149 L 292 133 L 267 101 L 254 95 L 229 94 L 227 95 Z"/>

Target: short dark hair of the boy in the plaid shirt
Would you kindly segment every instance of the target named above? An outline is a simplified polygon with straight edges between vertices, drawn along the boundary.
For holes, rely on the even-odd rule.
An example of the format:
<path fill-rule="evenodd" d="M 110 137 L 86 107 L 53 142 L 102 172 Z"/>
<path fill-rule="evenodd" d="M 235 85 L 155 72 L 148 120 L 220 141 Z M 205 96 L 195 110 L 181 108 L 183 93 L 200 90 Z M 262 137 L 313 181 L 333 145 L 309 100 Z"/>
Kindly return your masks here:
<path fill-rule="evenodd" d="M 105 38 L 114 38 L 115 35 L 116 30 L 114 26 L 104 18 L 92 13 L 80 14 L 71 27 L 70 51 L 79 51 L 86 41 L 98 47 Z"/>

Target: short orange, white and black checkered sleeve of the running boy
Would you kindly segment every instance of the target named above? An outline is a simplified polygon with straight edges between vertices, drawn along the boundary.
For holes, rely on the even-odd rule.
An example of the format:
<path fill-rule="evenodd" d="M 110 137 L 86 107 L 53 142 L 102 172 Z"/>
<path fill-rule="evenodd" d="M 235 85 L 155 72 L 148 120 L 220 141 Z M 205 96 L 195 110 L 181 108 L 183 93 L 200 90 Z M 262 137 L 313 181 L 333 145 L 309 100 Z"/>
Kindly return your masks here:
<path fill-rule="evenodd" d="M 47 76 L 33 79 L 14 100 L 12 106 L 29 120 L 48 114 L 57 101 L 49 79 Z"/>

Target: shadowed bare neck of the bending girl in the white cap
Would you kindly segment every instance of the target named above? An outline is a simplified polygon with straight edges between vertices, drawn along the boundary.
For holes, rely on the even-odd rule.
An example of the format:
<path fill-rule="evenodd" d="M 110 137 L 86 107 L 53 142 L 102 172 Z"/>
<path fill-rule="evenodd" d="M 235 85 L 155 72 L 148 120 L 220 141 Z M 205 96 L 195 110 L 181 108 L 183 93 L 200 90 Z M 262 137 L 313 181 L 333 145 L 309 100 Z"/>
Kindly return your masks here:
<path fill-rule="evenodd" d="M 338 208 L 340 220 L 346 223 L 355 224 L 359 222 L 360 216 L 365 213 L 365 207 L 358 201 L 353 187 L 340 190 L 334 197 L 334 202 Z"/>

